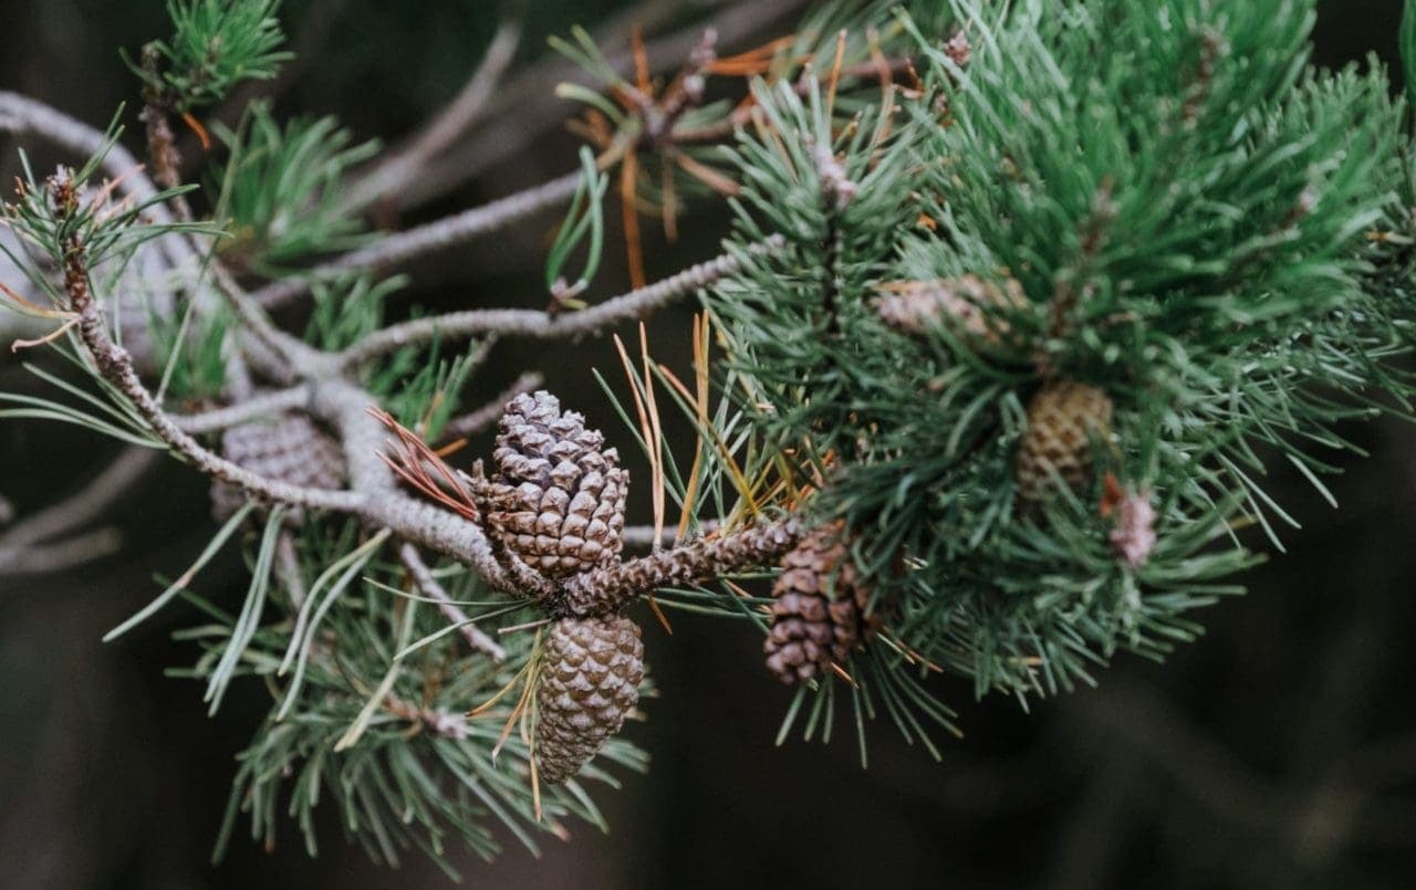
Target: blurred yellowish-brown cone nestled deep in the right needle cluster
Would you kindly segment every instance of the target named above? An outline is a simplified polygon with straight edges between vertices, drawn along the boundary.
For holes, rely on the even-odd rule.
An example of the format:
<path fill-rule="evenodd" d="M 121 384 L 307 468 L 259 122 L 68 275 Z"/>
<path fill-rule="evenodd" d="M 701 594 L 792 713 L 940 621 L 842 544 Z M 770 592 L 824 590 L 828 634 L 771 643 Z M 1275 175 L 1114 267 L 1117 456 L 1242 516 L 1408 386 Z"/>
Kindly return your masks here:
<path fill-rule="evenodd" d="M 1072 488 L 1086 484 L 1092 470 L 1092 439 L 1112 429 L 1110 396 L 1086 383 L 1045 385 L 1028 405 L 1028 430 L 1018 449 L 1018 499 L 1041 504 L 1052 492 L 1052 475 Z"/>

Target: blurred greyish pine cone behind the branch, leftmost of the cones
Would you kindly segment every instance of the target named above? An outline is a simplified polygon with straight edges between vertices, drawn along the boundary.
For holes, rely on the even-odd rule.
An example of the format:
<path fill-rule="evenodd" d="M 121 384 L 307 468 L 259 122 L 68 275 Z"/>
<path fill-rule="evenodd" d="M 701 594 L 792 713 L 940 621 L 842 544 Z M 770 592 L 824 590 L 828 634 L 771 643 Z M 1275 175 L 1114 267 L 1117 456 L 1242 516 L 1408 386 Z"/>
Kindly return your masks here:
<path fill-rule="evenodd" d="M 221 436 L 221 456 L 258 475 L 307 488 L 344 485 L 344 450 L 304 415 L 287 413 L 275 423 L 252 422 L 234 426 Z M 239 488 L 215 482 L 211 514 L 225 522 L 246 502 Z M 292 511 L 289 521 L 303 521 Z"/>

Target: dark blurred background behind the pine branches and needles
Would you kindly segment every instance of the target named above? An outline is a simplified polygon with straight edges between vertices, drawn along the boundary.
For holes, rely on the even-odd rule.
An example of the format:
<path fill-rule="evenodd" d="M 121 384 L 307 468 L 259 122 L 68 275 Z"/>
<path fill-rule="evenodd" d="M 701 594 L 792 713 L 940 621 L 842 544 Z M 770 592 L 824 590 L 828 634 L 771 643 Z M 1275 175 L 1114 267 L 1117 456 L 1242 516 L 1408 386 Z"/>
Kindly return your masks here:
<path fill-rule="evenodd" d="M 358 136 L 396 146 L 456 95 L 491 40 L 496 6 L 287 0 L 283 18 L 300 59 L 263 89 L 282 112 L 336 113 Z M 423 191 L 382 208 L 381 222 L 433 218 L 572 167 L 578 141 L 562 127 L 569 106 L 551 95 L 566 71 L 545 64 L 547 34 L 583 23 L 622 51 L 632 23 L 650 34 L 690 28 L 691 41 L 691 23 L 716 20 L 728 52 L 790 31 L 801 6 L 530 4 L 496 113 Z M 1393 59 L 1399 0 L 1320 7 L 1318 62 L 1369 52 Z M 166 34 L 163 4 L 0 0 L 0 88 L 98 126 L 129 102 L 129 136 L 136 132 L 136 82 L 118 48 L 132 52 Z M 57 160 L 35 149 L 45 164 Z M 0 137 L 0 150 L 8 181 L 13 141 Z M 405 304 L 541 307 L 554 222 L 528 221 L 411 269 Z M 726 222 L 721 208 L 701 207 L 677 245 L 646 225 L 650 277 L 715 255 Z M 596 293 L 624 287 L 622 256 L 617 246 L 607 252 Z M 658 358 L 685 364 L 688 321 L 687 310 L 656 318 Z M 573 354 L 501 347 L 472 400 L 538 368 L 615 441 L 623 429 L 592 366 L 620 379 L 603 340 Z M 0 355 L 0 388 L 21 391 L 31 379 L 8 351 Z M 627 732 L 653 768 L 600 795 L 612 832 L 578 826 L 569 843 L 548 839 L 539 859 L 507 836 L 496 865 L 456 865 L 484 887 L 1413 886 L 1416 427 L 1383 422 L 1349 434 L 1371 457 L 1342 458 L 1332 485 L 1340 511 L 1297 474 L 1277 471 L 1272 491 L 1303 528 L 1289 532 L 1289 553 L 1245 579 L 1246 597 L 1202 616 L 1205 638 L 1165 665 L 1120 658 L 1097 689 L 1034 702 L 1031 713 L 1000 698 L 974 702 L 969 683 L 942 679 L 937 690 L 967 733 L 943 744 L 943 763 L 888 724 L 871 732 L 868 771 L 848 733 L 831 746 L 776 747 L 787 692 L 762 668 L 755 632 L 678 616 L 668 637 L 646 620 L 661 693 L 647 702 L 649 722 Z M 20 514 L 33 511 L 113 454 L 74 427 L 0 422 L 0 492 Z M 641 467 L 632 473 L 644 478 Z M 647 515 L 644 502 L 630 508 Z M 195 683 L 164 678 L 164 668 L 194 657 L 169 638 L 191 620 L 181 606 L 119 644 L 99 642 L 153 596 L 154 573 L 180 570 L 210 536 L 201 480 L 166 464 L 113 522 L 125 535 L 118 556 L 61 574 L 0 576 L 0 886 L 445 886 L 416 855 L 401 872 L 368 865 L 343 843 L 330 812 L 316 860 L 292 825 L 270 852 L 238 838 L 224 863 L 208 863 L 232 757 L 268 698 L 238 685 L 208 719 Z M 202 579 L 228 601 L 244 587 L 234 556 Z"/>

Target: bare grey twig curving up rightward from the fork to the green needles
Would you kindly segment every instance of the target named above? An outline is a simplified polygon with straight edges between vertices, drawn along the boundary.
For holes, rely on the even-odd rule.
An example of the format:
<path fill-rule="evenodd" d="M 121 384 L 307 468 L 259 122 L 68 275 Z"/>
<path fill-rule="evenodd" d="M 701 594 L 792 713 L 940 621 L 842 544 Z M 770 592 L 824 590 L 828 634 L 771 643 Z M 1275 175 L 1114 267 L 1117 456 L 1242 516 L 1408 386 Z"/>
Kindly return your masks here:
<path fill-rule="evenodd" d="M 782 245 L 783 239 L 773 235 L 750 248 L 750 250 L 753 253 L 763 253 L 776 250 Z M 732 274 L 741 267 L 742 263 L 736 256 L 722 255 L 691 266 L 649 287 L 632 290 L 578 313 L 551 314 L 528 308 L 474 308 L 446 316 L 416 318 L 370 334 L 341 352 L 336 361 L 343 368 L 354 368 L 406 345 L 430 342 L 435 338 L 443 342 L 449 340 L 466 340 L 477 334 L 506 334 L 538 340 L 581 337 L 612 327 L 627 318 L 653 313 L 680 297 L 692 294 L 700 287 Z"/>

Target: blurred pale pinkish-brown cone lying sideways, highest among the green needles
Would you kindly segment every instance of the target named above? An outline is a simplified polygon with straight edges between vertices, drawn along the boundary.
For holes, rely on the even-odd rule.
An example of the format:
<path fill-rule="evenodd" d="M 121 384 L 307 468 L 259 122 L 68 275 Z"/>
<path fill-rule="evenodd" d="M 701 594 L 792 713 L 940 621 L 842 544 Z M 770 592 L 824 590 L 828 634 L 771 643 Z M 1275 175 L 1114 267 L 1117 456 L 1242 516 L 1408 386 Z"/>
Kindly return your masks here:
<path fill-rule="evenodd" d="M 990 345 L 997 345 L 1011 330 L 1001 313 L 991 310 L 1015 313 L 1027 306 L 1017 279 L 1007 279 L 1000 287 L 977 274 L 964 274 L 937 282 L 895 282 L 882 290 L 874 301 L 875 311 L 896 331 L 922 337 L 947 324 Z"/>

